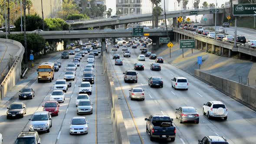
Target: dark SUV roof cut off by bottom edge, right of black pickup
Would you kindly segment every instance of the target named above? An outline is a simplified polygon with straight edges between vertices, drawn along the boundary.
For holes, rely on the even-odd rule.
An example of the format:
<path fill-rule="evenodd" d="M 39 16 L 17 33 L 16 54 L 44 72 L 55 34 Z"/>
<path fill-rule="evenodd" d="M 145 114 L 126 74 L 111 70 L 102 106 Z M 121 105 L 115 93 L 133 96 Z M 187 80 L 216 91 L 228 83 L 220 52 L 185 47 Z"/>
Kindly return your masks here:
<path fill-rule="evenodd" d="M 198 140 L 198 144 L 229 144 L 225 137 L 206 136 L 202 140 Z"/>

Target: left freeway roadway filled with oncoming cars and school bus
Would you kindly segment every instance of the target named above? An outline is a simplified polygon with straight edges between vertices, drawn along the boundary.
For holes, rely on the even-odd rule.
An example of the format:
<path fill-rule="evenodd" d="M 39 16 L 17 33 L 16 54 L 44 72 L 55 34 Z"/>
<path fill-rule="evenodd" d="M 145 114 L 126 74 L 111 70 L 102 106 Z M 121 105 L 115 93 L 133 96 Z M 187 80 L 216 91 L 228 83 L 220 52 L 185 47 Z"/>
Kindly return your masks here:
<path fill-rule="evenodd" d="M 59 54 L 58 54 L 59 55 Z M 59 55 L 60 56 L 60 55 Z M 80 67 L 76 70 L 75 81 L 71 81 L 72 86 L 65 95 L 65 101 L 60 103 L 58 116 L 53 116 L 53 126 L 49 133 L 39 133 L 41 144 L 92 144 L 92 143 L 108 143 L 114 144 L 114 136 L 112 134 L 111 111 L 108 102 L 108 90 L 103 75 L 102 62 L 99 56 L 95 56 L 95 84 L 92 86 L 92 95 L 90 99 L 93 105 L 92 115 L 77 115 L 75 100 L 79 94 L 79 85 L 82 82 L 83 69 L 87 63 L 87 56 L 83 57 Z M 35 97 L 30 100 L 19 100 L 15 102 L 23 102 L 27 106 L 24 118 L 7 119 L 6 112 L 1 111 L 0 115 L 0 133 L 3 134 L 3 144 L 13 144 L 21 131 L 29 130 L 29 118 L 35 111 L 42 111 L 42 105 L 49 101 L 53 85 L 56 79 L 63 79 L 66 71 L 66 65 L 73 61 L 73 56 L 69 59 L 59 59 L 62 67 L 59 72 L 55 73 L 55 79 L 51 83 L 38 83 L 37 80 L 32 82 L 28 87 L 33 88 Z M 37 75 L 36 75 L 37 76 Z M 35 78 L 36 79 L 36 78 Z M 6 108 L 8 105 L 5 105 Z M 3 110 L 3 108 L 1 109 Z M 85 116 L 89 121 L 89 133 L 85 135 L 69 135 L 69 122 L 72 117 Z"/>

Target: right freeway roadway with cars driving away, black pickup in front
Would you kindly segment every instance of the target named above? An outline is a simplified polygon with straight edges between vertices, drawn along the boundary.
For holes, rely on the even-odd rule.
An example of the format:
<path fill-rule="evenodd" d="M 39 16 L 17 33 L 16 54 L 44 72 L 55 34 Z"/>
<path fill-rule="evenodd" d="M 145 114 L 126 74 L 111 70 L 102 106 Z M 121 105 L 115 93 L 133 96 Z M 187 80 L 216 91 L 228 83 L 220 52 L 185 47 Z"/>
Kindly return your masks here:
<path fill-rule="evenodd" d="M 108 52 L 108 62 L 112 63 L 112 76 L 118 101 L 121 106 L 122 114 L 125 120 L 125 127 L 128 131 L 128 137 L 131 144 L 157 144 L 173 143 L 169 141 L 150 141 L 146 133 L 146 121 L 153 114 L 166 114 L 174 118 L 174 124 L 177 128 L 175 144 L 196 144 L 198 139 L 204 136 L 224 136 L 230 144 L 253 144 L 256 141 L 256 113 L 245 105 L 231 99 L 230 97 L 217 91 L 215 88 L 194 78 L 187 72 L 178 69 L 174 65 L 163 63 L 161 71 L 151 71 L 150 64 L 154 60 L 146 58 L 144 63 L 145 70 L 138 72 L 138 83 L 125 83 L 123 72 L 133 70 L 133 64 L 138 62 L 137 56 L 141 54 L 139 49 L 131 49 L 131 57 L 123 57 L 121 47 L 118 51 Z M 112 55 L 118 53 L 123 59 L 123 65 L 115 65 Z M 163 79 L 163 88 L 150 88 L 148 78 L 151 76 L 160 76 Z M 189 89 L 174 90 L 171 87 L 171 79 L 174 76 L 184 76 L 188 79 Z M 144 101 L 131 101 L 129 98 L 129 89 L 143 88 L 145 92 Z M 228 119 L 208 120 L 202 113 L 203 104 L 207 101 L 223 101 L 228 108 Z M 180 124 L 175 119 L 175 108 L 181 106 L 193 106 L 197 108 L 200 115 L 199 124 Z"/>

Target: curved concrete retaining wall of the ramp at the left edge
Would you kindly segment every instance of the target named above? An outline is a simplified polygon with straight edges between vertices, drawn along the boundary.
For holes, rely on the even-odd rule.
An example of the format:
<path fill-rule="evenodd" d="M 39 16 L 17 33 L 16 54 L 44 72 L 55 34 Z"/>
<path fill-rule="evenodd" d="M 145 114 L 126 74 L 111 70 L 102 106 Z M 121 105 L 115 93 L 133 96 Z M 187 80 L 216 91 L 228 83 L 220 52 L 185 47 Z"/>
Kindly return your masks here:
<path fill-rule="evenodd" d="M 20 80 L 21 62 L 25 49 L 20 42 L 12 39 L 0 39 L 0 42 L 12 43 L 20 48 L 20 50 L 14 55 L 15 62 L 13 66 L 11 67 L 3 82 L 0 84 L 0 100 L 2 100 L 7 92 L 13 88 L 13 86 L 16 85 L 16 83 Z"/>

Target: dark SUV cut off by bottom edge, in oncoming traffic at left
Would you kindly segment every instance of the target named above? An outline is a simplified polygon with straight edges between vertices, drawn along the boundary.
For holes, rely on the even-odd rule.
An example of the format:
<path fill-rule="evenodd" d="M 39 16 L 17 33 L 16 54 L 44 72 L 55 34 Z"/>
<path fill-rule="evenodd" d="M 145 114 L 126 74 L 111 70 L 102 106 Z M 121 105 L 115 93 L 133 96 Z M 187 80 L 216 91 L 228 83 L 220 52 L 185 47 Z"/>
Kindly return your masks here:
<path fill-rule="evenodd" d="M 37 131 L 22 131 L 14 144 L 40 144 L 41 139 Z"/>

